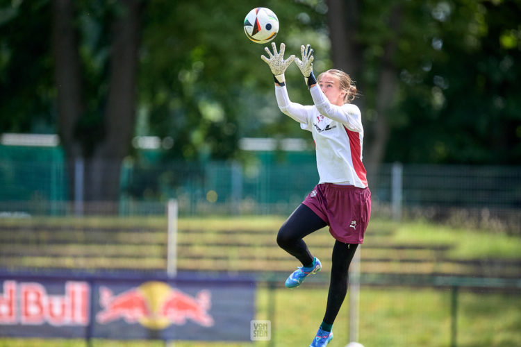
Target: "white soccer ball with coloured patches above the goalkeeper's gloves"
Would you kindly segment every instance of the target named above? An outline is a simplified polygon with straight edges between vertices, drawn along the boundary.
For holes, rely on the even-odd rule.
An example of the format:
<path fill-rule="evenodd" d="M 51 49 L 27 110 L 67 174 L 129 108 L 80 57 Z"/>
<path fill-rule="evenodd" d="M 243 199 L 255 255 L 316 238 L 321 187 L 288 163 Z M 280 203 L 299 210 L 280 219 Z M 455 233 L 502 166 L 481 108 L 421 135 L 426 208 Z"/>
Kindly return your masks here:
<path fill-rule="evenodd" d="M 245 18 L 245 33 L 249 40 L 265 44 L 279 32 L 279 19 L 269 8 L 258 7 L 249 11 Z"/>

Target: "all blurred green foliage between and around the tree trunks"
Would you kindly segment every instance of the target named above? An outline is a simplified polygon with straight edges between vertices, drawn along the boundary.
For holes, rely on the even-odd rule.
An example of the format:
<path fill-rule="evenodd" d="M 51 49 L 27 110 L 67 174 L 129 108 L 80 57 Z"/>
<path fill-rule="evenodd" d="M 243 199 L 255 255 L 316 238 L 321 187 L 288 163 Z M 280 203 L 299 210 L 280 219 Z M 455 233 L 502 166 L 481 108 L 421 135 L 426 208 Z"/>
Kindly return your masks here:
<path fill-rule="evenodd" d="M 399 78 L 386 162 L 521 162 L 521 4 L 518 0 L 358 1 L 366 141 L 376 114 L 381 58 L 396 42 Z M 85 113 L 76 138 L 103 137 L 113 18 L 118 1 L 74 1 Z M 165 158 L 233 158 L 240 137 L 305 137 L 276 107 L 264 46 L 242 31 L 255 6 L 281 22 L 274 42 L 315 47 L 315 70 L 331 66 L 324 0 L 144 2 L 136 135 L 173 140 Z M 399 11 L 396 11 L 399 9 Z M 341 15 L 341 14 L 338 14 Z M 52 1 L 0 3 L 0 130 L 56 133 Z M 397 22 L 397 30 L 390 26 Z M 396 24 L 396 23 L 395 23 Z M 349 34 L 349 33 L 348 33 Z M 59 68 L 59 67 L 57 67 Z M 286 73 L 292 101 L 310 103 L 301 75 Z"/>

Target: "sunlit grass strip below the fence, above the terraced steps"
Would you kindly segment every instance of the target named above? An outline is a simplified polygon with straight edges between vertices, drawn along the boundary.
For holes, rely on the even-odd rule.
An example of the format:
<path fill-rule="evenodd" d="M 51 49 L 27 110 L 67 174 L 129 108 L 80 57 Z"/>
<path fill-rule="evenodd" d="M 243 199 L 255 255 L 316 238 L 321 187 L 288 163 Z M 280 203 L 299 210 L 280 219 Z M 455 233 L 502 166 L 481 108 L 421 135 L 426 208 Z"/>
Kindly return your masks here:
<path fill-rule="evenodd" d="M 274 239 L 284 220 L 285 217 L 273 216 L 181 217 L 178 221 L 178 228 L 187 232 L 190 232 L 190 230 L 206 230 L 208 232 L 220 230 L 272 230 L 272 237 L 270 235 L 263 235 L 263 237 Z M 2 219 L 2 224 L 3 226 L 34 226 L 37 224 L 39 227 L 44 226 L 47 228 L 63 228 L 66 226 L 67 232 L 71 231 L 71 228 L 74 226 L 78 228 L 143 227 L 162 231 L 165 230 L 167 221 L 164 217 L 85 217 L 83 219 L 74 217 L 35 217 L 32 219 Z M 322 231 L 324 231 L 322 236 L 326 234 L 329 237 L 326 228 Z M 238 236 L 234 235 L 233 237 Z M 222 234 L 220 237 L 222 237 Z M 313 239 L 313 237 L 315 235 L 311 235 L 310 239 Z M 159 241 L 163 240 L 163 238 L 164 236 L 160 236 Z M 454 228 L 427 223 L 426 221 L 396 222 L 373 218 L 367 229 L 365 242 L 371 244 L 377 239 L 390 244 L 448 245 L 451 246 L 448 255 L 453 258 L 487 259 L 495 257 L 499 259 L 521 259 L 521 238 L 495 230 Z"/>

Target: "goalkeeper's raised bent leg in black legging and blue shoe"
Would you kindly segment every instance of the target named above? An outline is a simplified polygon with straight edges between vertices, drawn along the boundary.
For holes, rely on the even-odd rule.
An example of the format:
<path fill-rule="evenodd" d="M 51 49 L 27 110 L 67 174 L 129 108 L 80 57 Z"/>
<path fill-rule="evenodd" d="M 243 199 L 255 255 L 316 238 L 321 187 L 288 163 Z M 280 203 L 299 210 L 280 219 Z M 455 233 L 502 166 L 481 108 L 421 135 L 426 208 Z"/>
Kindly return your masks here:
<path fill-rule="evenodd" d="M 288 277 L 286 287 L 299 287 L 306 277 L 317 273 L 322 268 L 320 260 L 311 255 L 303 238 L 324 226 L 326 226 L 326 222 L 306 205 L 300 205 L 281 226 L 279 235 L 276 237 L 277 244 L 302 263 L 302 266 L 299 266 Z"/>

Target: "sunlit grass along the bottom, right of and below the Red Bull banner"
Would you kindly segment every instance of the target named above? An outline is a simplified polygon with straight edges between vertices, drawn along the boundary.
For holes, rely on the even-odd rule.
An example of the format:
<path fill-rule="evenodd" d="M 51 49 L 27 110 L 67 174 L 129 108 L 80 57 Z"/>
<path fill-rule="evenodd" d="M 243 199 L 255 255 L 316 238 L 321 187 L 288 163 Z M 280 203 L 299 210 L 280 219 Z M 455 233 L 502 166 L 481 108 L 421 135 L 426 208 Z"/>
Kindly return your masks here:
<path fill-rule="evenodd" d="M 308 346 L 322 321 L 327 289 L 259 289 L 256 319 L 272 320 L 274 346 Z M 275 316 L 268 315 L 268 299 L 275 300 Z M 451 343 L 451 293 L 429 288 L 362 287 L 360 296 L 360 342 L 365 347 L 449 347 Z M 521 297 L 460 291 L 458 294 L 457 346 L 521 346 Z M 349 342 L 349 298 L 333 325 L 330 344 Z M 0 347 L 85 346 L 81 340 L 1 339 Z M 94 340 L 95 347 L 165 346 L 160 341 Z M 267 342 L 222 343 L 176 341 L 176 347 L 269 346 Z"/>

